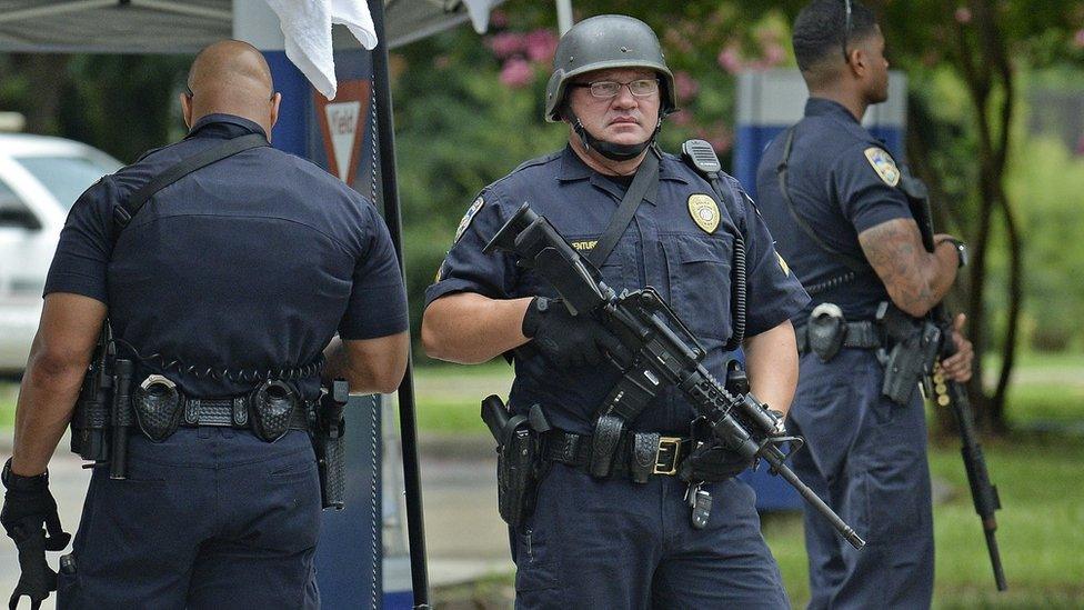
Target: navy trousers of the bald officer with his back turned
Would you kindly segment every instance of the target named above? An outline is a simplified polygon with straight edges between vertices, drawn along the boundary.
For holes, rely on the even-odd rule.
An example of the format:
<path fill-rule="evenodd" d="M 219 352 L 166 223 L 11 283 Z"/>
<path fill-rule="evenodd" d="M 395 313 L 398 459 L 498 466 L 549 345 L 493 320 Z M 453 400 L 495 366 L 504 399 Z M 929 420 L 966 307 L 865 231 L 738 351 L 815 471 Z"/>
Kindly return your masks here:
<path fill-rule="evenodd" d="M 71 609 L 319 608 L 320 480 L 308 434 L 180 429 L 129 440 L 128 479 L 98 469 L 60 574 Z"/>

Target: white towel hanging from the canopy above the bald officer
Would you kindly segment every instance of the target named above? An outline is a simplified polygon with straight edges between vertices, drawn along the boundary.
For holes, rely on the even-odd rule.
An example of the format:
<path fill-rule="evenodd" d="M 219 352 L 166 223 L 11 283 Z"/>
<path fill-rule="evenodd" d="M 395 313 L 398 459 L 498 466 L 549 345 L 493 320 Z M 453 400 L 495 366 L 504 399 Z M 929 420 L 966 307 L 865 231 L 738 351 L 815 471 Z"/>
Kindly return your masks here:
<path fill-rule="evenodd" d="M 365 0 L 265 0 L 279 16 L 290 61 L 329 100 L 335 99 L 335 60 L 331 26 L 347 26 L 368 50 L 377 47 L 377 31 Z"/>

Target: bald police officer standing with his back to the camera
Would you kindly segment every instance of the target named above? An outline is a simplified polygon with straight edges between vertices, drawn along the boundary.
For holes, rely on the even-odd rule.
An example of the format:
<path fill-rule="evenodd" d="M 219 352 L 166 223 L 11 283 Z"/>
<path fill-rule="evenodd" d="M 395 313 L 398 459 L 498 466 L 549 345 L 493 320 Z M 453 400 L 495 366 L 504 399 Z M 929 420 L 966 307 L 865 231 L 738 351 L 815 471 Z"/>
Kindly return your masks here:
<path fill-rule="evenodd" d="M 71 209 L 19 394 L 2 522 L 12 536 L 46 523 L 61 538 L 46 467 L 108 314 L 136 381 L 187 402 L 171 434 L 130 434 L 126 479 L 94 470 L 60 607 L 315 608 L 321 499 L 305 411 L 321 374 L 355 392 L 398 386 L 403 282 L 373 206 L 267 146 L 281 96 L 258 50 L 212 44 L 188 84 L 188 137 L 102 178 Z M 127 223 L 117 211 L 182 159 L 249 134 L 263 146 L 175 180 Z M 253 431 L 274 424 L 250 400 L 261 388 L 291 406 L 277 440 Z M 227 407 L 223 421 L 212 408 L 222 399 L 244 408 Z M 42 563 L 23 564 L 17 594 L 57 587 Z"/>

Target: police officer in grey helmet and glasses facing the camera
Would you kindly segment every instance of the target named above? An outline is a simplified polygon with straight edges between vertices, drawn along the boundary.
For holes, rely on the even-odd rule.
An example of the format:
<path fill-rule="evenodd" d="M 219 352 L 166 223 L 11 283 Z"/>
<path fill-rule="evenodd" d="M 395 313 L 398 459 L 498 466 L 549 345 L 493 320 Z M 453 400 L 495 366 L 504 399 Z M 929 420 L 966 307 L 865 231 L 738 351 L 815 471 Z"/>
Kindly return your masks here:
<path fill-rule="evenodd" d="M 724 177 L 721 200 L 700 173 L 658 152 L 655 134 L 675 110 L 673 77 L 646 24 L 602 16 L 574 26 L 558 46 L 545 101 L 546 120 L 568 124 L 568 147 L 482 190 L 426 292 L 428 352 L 478 363 L 515 350 L 510 407 L 520 414 L 541 407 L 553 427 L 544 446 L 590 443 L 595 410 L 621 377 L 608 354 L 620 358 L 622 346 L 593 318 L 550 301 L 554 291 L 534 271 L 509 254 L 483 254 L 482 247 L 525 201 L 591 256 L 649 156 L 656 156 L 658 179 L 601 263 L 604 281 L 619 291 L 659 289 L 722 379 L 723 347 L 734 330 L 732 254 L 744 231 L 752 392 L 774 409 L 785 411 L 791 401 L 796 356 L 789 318 L 807 297 L 736 181 Z M 681 394 L 668 391 L 630 422 L 625 440 L 634 432 L 687 439 L 693 417 Z M 732 477 L 747 464 L 704 484 L 713 506 L 706 527 L 696 529 L 689 486 L 673 473 L 681 458 L 679 451 L 638 483 L 628 468 L 593 478 L 582 461 L 546 453 L 536 508 L 512 531 L 516 606 L 786 607 L 753 492 Z"/>

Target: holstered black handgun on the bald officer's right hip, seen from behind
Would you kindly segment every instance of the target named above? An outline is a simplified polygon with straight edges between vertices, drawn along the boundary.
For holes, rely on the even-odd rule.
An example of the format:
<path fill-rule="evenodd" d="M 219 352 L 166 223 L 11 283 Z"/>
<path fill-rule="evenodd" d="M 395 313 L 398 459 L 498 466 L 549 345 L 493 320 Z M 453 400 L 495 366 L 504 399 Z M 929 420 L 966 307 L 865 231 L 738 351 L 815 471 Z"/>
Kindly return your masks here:
<path fill-rule="evenodd" d="M 313 447 L 320 470 L 320 499 L 323 508 L 342 510 L 345 506 L 347 470 L 343 434 L 347 422 L 343 410 L 350 400 L 350 384 L 345 379 L 331 383 L 331 391 L 320 397 L 317 407 L 317 429 Z"/>

